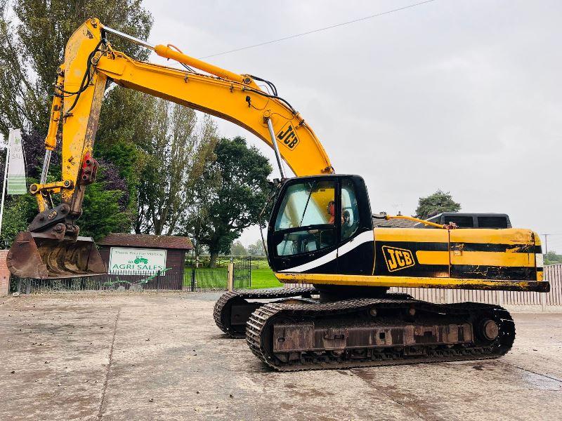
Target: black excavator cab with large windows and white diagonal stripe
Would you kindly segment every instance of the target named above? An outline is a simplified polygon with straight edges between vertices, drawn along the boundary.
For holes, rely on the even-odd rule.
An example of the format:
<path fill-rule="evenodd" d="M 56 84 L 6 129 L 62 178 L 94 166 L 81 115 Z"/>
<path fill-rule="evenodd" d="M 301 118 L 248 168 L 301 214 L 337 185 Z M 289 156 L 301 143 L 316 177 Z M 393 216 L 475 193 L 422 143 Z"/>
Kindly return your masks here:
<path fill-rule="evenodd" d="M 270 266 L 275 272 L 370 274 L 372 229 L 367 188 L 358 175 L 287 179 L 268 226 Z"/>

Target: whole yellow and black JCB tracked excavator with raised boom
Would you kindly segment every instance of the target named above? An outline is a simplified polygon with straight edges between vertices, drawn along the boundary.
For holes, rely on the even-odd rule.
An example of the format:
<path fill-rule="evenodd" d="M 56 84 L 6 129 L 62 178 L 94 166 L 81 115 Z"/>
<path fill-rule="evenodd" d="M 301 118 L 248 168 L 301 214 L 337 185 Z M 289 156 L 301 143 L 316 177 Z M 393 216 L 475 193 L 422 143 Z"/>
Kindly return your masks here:
<path fill-rule="evenodd" d="M 133 60 L 112 48 L 111 36 L 184 69 Z M 93 142 L 108 81 L 232 121 L 275 150 L 282 179 L 272 195 L 268 261 L 282 283 L 313 288 L 228 292 L 216 302 L 214 319 L 226 335 L 246 338 L 251 352 L 276 370 L 496 358 L 515 338 L 507 310 L 475 302 L 433 304 L 388 289 L 549 290 L 535 232 L 429 221 L 418 222 L 432 229 L 374 227 L 365 182 L 335 173 L 308 121 L 273 83 L 172 45 L 153 46 L 95 18 L 70 37 L 58 69 L 41 180 L 30 186 L 39 213 L 8 254 L 15 275 L 106 272 L 76 222 L 84 189 L 96 178 Z M 46 182 L 61 132 L 62 180 Z M 285 178 L 282 160 L 295 178 Z M 53 194 L 60 194 L 56 206 Z"/>

